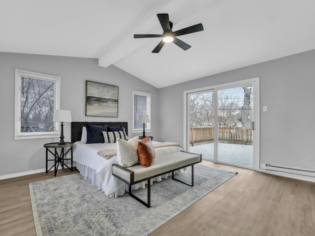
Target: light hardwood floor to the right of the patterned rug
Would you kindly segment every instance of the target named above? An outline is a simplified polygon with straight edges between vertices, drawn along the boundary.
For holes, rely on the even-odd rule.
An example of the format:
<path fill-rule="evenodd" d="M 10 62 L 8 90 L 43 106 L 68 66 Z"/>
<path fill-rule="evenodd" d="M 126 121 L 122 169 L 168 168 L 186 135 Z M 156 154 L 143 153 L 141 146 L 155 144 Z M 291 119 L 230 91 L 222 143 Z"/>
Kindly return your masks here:
<path fill-rule="evenodd" d="M 238 174 L 150 236 L 315 236 L 315 183 L 203 164 Z"/>

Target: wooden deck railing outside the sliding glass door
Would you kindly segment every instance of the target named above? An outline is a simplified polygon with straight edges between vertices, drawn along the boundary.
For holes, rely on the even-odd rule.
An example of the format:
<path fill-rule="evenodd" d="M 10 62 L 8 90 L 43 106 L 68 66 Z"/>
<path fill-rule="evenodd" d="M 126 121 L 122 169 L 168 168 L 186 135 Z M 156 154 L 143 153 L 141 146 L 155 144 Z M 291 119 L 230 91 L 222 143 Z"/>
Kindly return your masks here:
<path fill-rule="evenodd" d="M 252 145 L 252 128 L 219 127 L 221 143 Z M 190 146 L 214 142 L 214 127 L 190 127 Z"/>

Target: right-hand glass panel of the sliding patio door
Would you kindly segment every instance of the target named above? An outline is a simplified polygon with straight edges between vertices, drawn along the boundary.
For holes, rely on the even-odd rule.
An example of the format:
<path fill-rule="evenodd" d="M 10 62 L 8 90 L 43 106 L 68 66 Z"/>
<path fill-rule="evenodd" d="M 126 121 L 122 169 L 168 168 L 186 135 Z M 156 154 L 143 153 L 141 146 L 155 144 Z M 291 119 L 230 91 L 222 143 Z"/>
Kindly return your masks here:
<path fill-rule="evenodd" d="M 218 162 L 252 168 L 252 85 L 218 90 Z"/>

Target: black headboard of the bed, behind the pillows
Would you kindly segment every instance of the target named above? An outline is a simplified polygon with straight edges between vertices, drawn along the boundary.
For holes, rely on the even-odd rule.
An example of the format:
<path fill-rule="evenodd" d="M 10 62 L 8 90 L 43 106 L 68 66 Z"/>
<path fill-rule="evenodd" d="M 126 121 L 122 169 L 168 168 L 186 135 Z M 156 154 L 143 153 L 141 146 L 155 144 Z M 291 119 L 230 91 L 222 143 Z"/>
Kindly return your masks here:
<path fill-rule="evenodd" d="M 72 122 L 71 123 L 71 142 L 72 143 L 81 140 L 82 127 L 85 126 L 86 123 L 94 124 L 94 125 L 107 124 L 108 126 L 123 125 L 126 130 L 126 134 L 128 135 L 128 122 Z"/>

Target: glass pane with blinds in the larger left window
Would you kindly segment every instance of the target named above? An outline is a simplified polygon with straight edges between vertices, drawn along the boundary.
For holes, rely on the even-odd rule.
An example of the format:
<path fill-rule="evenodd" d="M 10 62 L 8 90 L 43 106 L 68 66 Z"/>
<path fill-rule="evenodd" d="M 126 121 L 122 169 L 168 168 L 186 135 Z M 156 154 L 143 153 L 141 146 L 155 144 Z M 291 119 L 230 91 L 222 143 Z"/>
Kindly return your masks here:
<path fill-rule="evenodd" d="M 56 83 L 21 76 L 21 133 L 54 131 Z"/>

